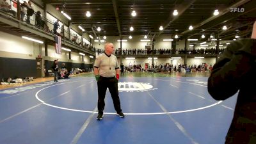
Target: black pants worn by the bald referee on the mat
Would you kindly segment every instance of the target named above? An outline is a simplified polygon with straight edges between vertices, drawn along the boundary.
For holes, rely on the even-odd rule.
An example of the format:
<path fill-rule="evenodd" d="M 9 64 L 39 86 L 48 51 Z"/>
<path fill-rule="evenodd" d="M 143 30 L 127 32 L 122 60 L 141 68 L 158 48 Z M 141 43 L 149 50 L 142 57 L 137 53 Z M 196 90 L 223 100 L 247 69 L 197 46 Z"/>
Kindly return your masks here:
<path fill-rule="evenodd" d="M 115 77 L 102 77 L 100 76 L 98 81 L 98 111 L 99 113 L 103 113 L 104 107 L 105 107 L 105 95 L 107 88 L 109 89 L 109 92 L 111 94 L 114 108 L 116 110 L 116 113 L 122 112 L 121 106 L 120 106 L 120 99 L 118 96 L 118 80 Z"/>

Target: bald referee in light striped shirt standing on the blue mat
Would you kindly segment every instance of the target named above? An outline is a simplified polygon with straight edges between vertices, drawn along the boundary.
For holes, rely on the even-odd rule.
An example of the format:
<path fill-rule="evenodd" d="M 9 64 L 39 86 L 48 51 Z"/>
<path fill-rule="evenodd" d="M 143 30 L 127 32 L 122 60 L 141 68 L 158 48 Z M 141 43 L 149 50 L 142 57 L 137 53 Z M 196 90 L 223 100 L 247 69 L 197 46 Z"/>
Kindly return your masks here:
<path fill-rule="evenodd" d="M 120 106 L 120 99 L 118 96 L 118 79 L 119 79 L 119 65 L 112 53 L 115 51 L 112 43 L 105 44 L 105 51 L 99 54 L 94 63 L 94 74 L 98 84 L 98 116 L 97 120 L 102 120 L 103 110 L 105 106 L 105 95 L 107 88 L 111 93 L 114 107 L 117 115 L 124 118 L 124 113 Z M 115 77 L 116 76 L 116 77 Z"/>

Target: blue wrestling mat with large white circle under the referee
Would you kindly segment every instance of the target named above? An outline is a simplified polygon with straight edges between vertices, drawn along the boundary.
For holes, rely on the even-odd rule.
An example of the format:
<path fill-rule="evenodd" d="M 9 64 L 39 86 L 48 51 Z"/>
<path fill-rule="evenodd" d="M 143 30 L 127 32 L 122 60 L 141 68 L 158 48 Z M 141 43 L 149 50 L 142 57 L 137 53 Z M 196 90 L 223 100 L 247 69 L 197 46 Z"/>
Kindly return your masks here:
<path fill-rule="evenodd" d="M 94 77 L 72 77 L 0 91 L 1 144 L 221 144 L 236 97 L 216 101 L 207 77 L 122 77 L 125 118 L 106 93 L 97 117 Z"/>

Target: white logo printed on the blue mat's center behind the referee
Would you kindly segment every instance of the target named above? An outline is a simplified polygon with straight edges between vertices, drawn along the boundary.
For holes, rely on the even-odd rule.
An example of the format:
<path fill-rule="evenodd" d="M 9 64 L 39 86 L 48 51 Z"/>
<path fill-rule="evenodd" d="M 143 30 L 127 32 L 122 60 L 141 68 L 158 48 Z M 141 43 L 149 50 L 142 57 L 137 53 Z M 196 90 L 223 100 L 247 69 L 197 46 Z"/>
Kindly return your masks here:
<path fill-rule="evenodd" d="M 141 82 L 118 82 L 118 91 L 119 92 L 145 92 L 149 90 L 156 90 L 149 83 Z"/>

